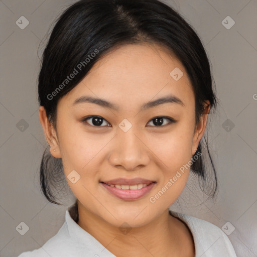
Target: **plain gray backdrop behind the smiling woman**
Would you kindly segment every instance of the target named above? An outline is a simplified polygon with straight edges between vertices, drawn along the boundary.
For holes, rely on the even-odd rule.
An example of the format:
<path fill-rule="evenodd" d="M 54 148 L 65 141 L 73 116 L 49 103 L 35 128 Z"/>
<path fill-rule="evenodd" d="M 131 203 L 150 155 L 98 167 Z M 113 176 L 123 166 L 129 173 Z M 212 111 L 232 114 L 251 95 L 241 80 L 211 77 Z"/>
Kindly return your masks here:
<path fill-rule="evenodd" d="M 48 203 L 40 192 L 39 165 L 48 144 L 38 118 L 36 82 L 38 54 L 42 54 L 50 25 L 74 2 L 0 1 L 1 256 L 18 256 L 41 247 L 57 233 L 66 208 L 75 199 L 67 192 L 63 196 L 65 206 L 57 206 Z M 197 179 L 190 176 L 180 204 L 174 203 L 171 209 L 220 228 L 229 222 L 223 229 L 235 228 L 228 237 L 237 256 L 257 256 L 257 2 L 166 3 L 178 10 L 202 39 L 221 101 L 208 135 L 218 173 L 218 197 L 215 203 L 205 201 L 194 182 Z M 16 25 L 21 16 L 29 21 L 24 30 Z M 235 22 L 230 29 L 222 25 L 227 16 Z M 25 235 L 16 229 L 21 222 L 29 226 Z"/>

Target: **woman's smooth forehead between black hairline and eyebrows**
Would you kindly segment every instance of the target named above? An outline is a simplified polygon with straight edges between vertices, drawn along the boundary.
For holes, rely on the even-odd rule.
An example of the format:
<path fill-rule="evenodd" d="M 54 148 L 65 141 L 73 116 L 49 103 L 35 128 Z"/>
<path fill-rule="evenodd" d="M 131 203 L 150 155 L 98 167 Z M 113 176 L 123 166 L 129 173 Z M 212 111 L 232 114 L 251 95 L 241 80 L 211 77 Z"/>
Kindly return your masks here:
<path fill-rule="evenodd" d="M 117 106 L 137 106 L 168 94 L 194 104 L 193 90 L 182 63 L 158 45 L 124 45 L 101 57 L 66 98 L 104 98 Z M 64 97 L 65 98 L 65 97 Z"/>

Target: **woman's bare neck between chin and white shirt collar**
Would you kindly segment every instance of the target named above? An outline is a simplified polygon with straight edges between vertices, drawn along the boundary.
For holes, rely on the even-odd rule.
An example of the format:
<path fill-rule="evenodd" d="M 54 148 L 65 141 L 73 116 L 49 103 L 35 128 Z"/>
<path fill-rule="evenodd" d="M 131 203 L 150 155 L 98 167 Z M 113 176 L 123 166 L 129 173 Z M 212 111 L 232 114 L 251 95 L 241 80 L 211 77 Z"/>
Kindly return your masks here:
<path fill-rule="evenodd" d="M 140 227 L 116 227 L 94 215 L 78 202 L 78 225 L 90 233 L 108 251 L 125 256 L 194 256 L 185 253 L 183 240 L 189 233 L 186 225 L 166 209 L 152 222 Z M 189 234 L 187 234 L 189 235 Z M 194 248 L 191 246 L 191 251 Z"/>

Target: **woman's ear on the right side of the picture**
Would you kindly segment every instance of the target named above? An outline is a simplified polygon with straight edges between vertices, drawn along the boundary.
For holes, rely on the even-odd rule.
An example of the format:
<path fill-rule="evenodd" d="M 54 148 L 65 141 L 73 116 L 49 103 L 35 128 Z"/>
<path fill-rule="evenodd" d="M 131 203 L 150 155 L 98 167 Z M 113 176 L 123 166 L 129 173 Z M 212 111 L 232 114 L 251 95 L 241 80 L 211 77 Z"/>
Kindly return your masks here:
<path fill-rule="evenodd" d="M 192 144 L 192 156 L 195 154 L 198 148 L 198 145 L 200 143 L 200 140 L 203 137 L 203 134 L 205 132 L 209 111 L 210 111 L 210 101 L 206 100 L 204 103 L 204 112 L 200 116 L 199 123 L 195 127 L 193 144 Z"/>

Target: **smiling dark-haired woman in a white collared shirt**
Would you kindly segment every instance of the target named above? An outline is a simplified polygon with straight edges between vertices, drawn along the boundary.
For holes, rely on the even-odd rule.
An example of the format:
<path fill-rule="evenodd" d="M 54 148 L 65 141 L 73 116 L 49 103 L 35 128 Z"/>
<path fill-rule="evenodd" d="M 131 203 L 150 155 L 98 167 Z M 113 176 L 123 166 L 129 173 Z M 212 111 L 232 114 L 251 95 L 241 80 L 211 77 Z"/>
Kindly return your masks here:
<path fill-rule="evenodd" d="M 168 209 L 190 170 L 207 178 L 200 141 L 217 100 L 204 47 L 177 12 L 157 0 L 73 4 L 51 33 L 38 93 L 56 158 L 43 156 L 42 191 L 59 204 L 50 185 L 64 174 L 77 200 L 58 233 L 20 257 L 236 256 L 220 228 Z"/>

